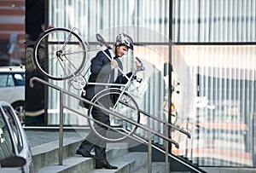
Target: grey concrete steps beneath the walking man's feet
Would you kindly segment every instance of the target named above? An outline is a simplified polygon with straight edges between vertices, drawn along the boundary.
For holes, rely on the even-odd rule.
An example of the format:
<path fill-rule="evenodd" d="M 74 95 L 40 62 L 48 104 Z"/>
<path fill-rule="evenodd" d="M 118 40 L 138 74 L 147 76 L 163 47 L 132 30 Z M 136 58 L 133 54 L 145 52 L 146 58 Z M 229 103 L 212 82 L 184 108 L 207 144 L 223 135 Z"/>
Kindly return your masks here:
<path fill-rule="evenodd" d="M 50 133 L 50 132 L 49 132 Z M 74 132 L 75 133 L 75 132 Z M 50 141 L 32 147 L 35 172 L 148 172 L 148 153 L 130 152 L 129 144 L 108 143 L 107 157 L 110 164 L 117 165 L 118 170 L 96 170 L 94 159 L 76 155 L 81 136 L 65 137 L 63 140 L 63 164 L 59 165 L 59 141 Z M 164 162 L 154 162 L 152 172 L 165 172 Z"/>

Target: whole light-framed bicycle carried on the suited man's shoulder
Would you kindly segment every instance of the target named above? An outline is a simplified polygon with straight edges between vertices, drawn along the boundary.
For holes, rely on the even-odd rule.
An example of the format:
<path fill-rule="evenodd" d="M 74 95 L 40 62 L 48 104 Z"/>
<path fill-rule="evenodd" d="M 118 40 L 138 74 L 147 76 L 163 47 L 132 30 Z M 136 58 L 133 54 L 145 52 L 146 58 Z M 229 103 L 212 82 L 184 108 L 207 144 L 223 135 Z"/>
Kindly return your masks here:
<path fill-rule="evenodd" d="M 128 78 L 124 72 L 119 71 L 127 78 L 126 84 L 105 84 L 105 83 L 89 83 L 84 76 L 89 72 L 90 66 L 85 69 L 86 66 L 87 49 L 89 43 L 84 42 L 83 39 L 75 31 L 79 31 L 77 28 L 49 28 L 39 38 L 34 46 L 34 62 L 38 67 L 38 71 L 44 76 L 53 80 L 69 80 L 69 84 L 72 84 L 75 89 L 82 89 L 82 93 L 85 92 L 84 86 L 87 84 L 104 85 L 108 89 L 103 89 L 97 93 L 91 102 L 100 105 L 101 107 L 108 108 L 112 112 L 119 112 L 124 116 L 124 119 L 119 119 L 109 114 L 111 122 L 114 122 L 112 128 L 115 130 L 108 130 L 107 136 L 101 135 L 97 130 L 96 121 L 92 120 L 93 106 L 88 108 L 89 125 L 97 136 L 106 141 L 122 141 L 127 136 L 131 136 L 136 130 L 137 126 L 125 121 L 125 118 L 132 119 L 133 121 L 140 122 L 140 112 L 137 105 L 137 101 L 127 90 L 131 85 L 131 81 L 135 78 L 137 72 L 144 71 L 142 61 L 137 57 L 137 61 L 141 66 L 132 71 L 131 77 Z M 104 47 L 110 48 L 108 43 L 102 38 L 100 34 L 96 34 L 96 40 L 99 43 L 96 50 L 102 51 Z M 95 50 L 94 50 L 95 51 Z M 107 54 L 106 54 L 107 55 Z M 108 56 L 108 55 L 107 55 Z M 108 56 L 109 61 L 112 59 Z M 138 78 L 138 82 L 142 79 Z M 115 88 L 112 88 L 115 87 Z M 114 100 L 114 101 L 113 101 Z M 122 133 L 117 133 L 116 130 L 121 130 Z"/>

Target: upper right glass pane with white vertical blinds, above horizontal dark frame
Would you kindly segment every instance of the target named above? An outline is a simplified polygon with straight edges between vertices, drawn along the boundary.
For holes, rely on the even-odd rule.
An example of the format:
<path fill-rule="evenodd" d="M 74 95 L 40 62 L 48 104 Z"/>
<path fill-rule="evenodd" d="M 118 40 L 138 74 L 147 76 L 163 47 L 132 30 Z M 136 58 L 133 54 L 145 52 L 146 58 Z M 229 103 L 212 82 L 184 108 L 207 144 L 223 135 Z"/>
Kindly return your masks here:
<path fill-rule="evenodd" d="M 172 40 L 182 43 L 255 42 L 255 1 L 173 0 Z"/>

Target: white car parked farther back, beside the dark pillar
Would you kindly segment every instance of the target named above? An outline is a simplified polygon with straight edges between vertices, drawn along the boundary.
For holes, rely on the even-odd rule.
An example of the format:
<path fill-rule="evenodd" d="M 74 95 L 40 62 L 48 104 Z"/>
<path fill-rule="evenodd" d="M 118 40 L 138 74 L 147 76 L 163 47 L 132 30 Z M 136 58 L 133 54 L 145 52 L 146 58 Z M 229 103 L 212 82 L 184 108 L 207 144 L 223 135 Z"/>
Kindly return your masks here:
<path fill-rule="evenodd" d="M 0 67 L 0 101 L 14 107 L 21 124 L 25 124 L 25 67 Z"/>

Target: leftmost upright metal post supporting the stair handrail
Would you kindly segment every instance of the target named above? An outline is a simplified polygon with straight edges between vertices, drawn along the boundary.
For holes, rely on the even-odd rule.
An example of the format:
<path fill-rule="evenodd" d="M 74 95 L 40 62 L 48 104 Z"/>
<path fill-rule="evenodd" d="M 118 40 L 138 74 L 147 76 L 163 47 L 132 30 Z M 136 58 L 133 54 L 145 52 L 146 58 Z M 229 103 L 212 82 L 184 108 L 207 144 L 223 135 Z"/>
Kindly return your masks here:
<path fill-rule="evenodd" d="M 60 90 L 59 165 L 63 162 L 63 90 Z"/>

